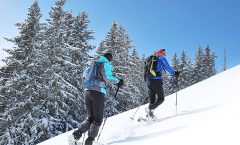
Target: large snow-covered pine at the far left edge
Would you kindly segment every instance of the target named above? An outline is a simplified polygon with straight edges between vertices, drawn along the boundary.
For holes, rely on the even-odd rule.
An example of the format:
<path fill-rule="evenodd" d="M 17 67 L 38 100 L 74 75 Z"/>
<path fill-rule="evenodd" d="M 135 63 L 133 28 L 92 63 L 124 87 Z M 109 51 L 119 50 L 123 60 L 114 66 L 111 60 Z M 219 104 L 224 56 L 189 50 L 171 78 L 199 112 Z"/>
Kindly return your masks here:
<path fill-rule="evenodd" d="M 40 8 L 35 1 L 29 8 L 28 17 L 18 23 L 19 36 L 7 39 L 15 44 L 7 50 L 6 66 L 1 68 L 1 96 L 5 105 L 1 116 L 0 144 L 34 144 L 38 140 L 41 125 L 35 117 L 40 98 L 44 94 L 42 86 L 42 69 L 38 59 L 43 57 L 40 43 Z M 34 113 L 33 113 L 34 112 Z"/>

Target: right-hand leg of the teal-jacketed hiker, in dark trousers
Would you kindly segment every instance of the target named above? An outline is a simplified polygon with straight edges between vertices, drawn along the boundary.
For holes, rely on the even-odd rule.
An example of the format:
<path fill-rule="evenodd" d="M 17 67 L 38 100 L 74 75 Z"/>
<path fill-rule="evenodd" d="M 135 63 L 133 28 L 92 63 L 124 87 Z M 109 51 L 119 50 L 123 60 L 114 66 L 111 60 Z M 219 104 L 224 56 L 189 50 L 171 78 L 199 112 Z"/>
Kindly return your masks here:
<path fill-rule="evenodd" d="M 102 124 L 103 114 L 104 114 L 104 94 L 101 92 L 94 92 L 91 96 L 91 101 L 93 105 L 93 118 L 94 121 L 90 126 L 88 137 L 95 139 L 98 135 L 99 128 Z"/>

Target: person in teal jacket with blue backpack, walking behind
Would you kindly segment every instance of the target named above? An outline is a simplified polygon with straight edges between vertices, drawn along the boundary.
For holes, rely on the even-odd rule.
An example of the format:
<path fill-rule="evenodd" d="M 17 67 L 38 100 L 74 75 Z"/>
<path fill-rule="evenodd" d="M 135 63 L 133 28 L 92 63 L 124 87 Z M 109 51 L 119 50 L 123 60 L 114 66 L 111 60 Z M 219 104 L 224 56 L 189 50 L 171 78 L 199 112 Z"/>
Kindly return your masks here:
<path fill-rule="evenodd" d="M 104 114 L 104 97 L 107 93 L 106 83 L 123 85 L 123 80 L 112 75 L 113 60 L 111 53 L 101 56 L 96 62 L 98 67 L 92 67 L 89 76 L 84 83 L 84 97 L 87 109 L 87 119 L 83 121 L 79 128 L 73 132 L 74 139 L 79 140 L 83 133 L 88 131 L 88 138 L 85 145 L 92 145 L 95 137 L 98 135 Z M 89 73 L 89 72 L 88 72 Z M 94 75 L 92 75 L 94 74 Z"/>

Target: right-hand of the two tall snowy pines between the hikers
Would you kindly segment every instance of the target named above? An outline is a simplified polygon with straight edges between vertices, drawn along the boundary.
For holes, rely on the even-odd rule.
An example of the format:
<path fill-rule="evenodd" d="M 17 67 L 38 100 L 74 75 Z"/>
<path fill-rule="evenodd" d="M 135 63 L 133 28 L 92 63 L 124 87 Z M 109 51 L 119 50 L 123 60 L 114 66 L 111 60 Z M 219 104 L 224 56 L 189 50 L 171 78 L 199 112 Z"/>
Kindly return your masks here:
<path fill-rule="evenodd" d="M 119 90 L 119 95 L 116 98 L 119 102 L 117 109 L 120 112 L 123 112 L 135 107 L 138 104 L 138 98 L 136 97 L 139 96 L 135 95 L 136 90 L 134 87 L 131 87 L 132 82 L 129 80 L 129 72 L 131 71 L 129 50 L 132 48 L 132 45 L 131 40 L 126 34 L 126 30 L 123 26 L 119 27 L 117 40 L 118 45 L 111 51 L 114 56 L 114 74 L 124 80 L 124 87 Z"/>

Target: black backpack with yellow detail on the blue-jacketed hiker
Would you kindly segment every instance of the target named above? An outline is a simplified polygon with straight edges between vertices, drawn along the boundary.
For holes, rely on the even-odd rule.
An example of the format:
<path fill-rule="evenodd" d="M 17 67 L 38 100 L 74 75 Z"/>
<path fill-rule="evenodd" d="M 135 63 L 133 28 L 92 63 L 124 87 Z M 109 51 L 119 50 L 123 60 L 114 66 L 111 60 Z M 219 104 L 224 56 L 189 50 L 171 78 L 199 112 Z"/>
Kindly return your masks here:
<path fill-rule="evenodd" d="M 157 72 L 157 56 L 151 55 L 145 61 L 144 80 L 147 81 L 152 77 L 161 77 L 161 73 Z"/>

